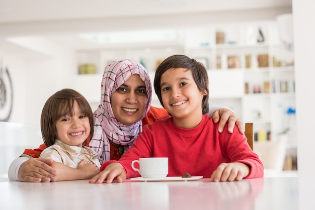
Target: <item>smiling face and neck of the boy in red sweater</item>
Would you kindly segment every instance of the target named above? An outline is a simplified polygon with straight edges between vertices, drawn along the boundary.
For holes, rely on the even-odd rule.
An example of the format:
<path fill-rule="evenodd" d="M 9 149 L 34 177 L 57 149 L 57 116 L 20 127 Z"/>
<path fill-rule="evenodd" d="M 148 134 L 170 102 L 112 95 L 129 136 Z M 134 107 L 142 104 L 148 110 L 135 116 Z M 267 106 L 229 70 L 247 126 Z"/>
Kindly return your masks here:
<path fill-rule="evenodd" d="M 191 70 L 171 68 L 162 74 L 161 95 L 165 109 L 182 128 L 194 128 L 202 119 L 201 92 Z"/>

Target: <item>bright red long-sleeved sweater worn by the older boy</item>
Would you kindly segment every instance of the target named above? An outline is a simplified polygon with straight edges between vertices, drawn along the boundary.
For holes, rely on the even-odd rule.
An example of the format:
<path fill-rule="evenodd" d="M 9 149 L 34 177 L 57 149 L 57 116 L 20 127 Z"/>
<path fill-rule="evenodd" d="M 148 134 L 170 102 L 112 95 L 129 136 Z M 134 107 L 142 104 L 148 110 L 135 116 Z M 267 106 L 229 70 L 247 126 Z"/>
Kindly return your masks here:
<path fill-rule="evenodd" d="M 182 176 L 188 172 L 192 176 L 210 178 L 220 163 L 242 162 L 251 167 L 246 178 L 263 177 L 264 166 L 249 147 L 245 135 L 239 133 L 237 126 L 232 134 L 228 133 L 227 125 L 219 133 L 218 125 L 207 115 L 193 129 L 177 127 L 172 118 L 156 121 L 143 127 L 119 162 L 124 166 L 127 178 L 140 176 L 131 168 L 131 162 L 140 157 L 169 157 L 168 176 Z M 113 162 L 118 161 L 104 163 L 101 171 Z"/>

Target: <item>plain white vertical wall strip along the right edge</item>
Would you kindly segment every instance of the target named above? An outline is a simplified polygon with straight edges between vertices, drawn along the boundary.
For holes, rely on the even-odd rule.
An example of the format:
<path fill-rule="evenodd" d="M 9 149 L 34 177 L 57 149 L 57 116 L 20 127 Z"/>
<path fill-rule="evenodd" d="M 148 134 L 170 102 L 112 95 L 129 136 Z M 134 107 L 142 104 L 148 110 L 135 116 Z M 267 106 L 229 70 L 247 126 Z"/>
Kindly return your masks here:
<path fill-rule="evenodd" d="M 298 176 L 315 177 L 313 110 L 315 15 L 313 0 L 293 0 Z"/>

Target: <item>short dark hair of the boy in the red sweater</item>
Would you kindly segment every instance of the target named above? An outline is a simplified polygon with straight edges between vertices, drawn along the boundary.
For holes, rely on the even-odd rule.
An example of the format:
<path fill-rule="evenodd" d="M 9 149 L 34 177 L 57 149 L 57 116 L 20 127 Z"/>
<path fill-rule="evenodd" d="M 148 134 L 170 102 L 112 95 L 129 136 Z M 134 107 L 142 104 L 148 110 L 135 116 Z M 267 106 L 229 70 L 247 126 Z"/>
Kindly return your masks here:
<path fill-rule="evenodd" d="M 207 93 L 202 99 L 202 114 L 209 112 L 209 89 L 208 89 L 208 74 L 204 65 L 195 59 L 189 58 L 186 55 L 172 55 L 165 59 L 159 66 L 157 66 L 154 76 L 154 90 L 164 107 L 161 95 L 161 77 L 164 72 L 170 68 L 186 68 L 192 71 L 193 78 L 199 90 Z"/>

